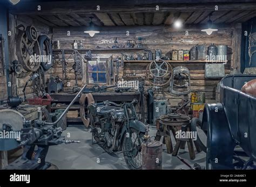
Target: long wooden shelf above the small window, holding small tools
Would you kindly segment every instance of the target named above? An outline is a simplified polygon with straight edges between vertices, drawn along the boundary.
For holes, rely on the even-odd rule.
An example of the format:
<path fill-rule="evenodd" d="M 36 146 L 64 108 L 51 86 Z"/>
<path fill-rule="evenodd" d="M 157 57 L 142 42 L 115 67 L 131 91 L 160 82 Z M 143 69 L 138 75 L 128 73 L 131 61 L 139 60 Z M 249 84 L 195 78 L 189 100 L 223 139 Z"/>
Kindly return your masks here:
<path fill-rule="evenodd" d="M 145 48 L 98 48 L 98 49 L 77 49 L 79 53 L 85 53 L 87 51 L 91 51 L 92 54 L 96 53 L 120 53 L 120 52 L 136 52 L 136 51 L 143 51 Z M 53 49 L 53 53 L 61 54 L 62 50 L 64 50 L 65 54 L 73 53 L 74 49 Z"/>

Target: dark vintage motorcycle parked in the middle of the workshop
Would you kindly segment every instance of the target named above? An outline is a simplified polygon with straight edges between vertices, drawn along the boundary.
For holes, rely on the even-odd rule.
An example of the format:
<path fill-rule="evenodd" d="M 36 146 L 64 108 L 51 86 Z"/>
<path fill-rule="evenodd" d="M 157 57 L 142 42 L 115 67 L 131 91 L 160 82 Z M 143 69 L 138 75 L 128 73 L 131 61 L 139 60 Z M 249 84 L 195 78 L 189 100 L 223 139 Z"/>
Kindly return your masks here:
<path fill-rule="evenodd" d="M 138 120 L 134 103 L 109 101 L 87 106 L 91 132 L 98 145 L 112 156 L 123 153 L 129 169 L 142 169 L 145 125 Z"/>

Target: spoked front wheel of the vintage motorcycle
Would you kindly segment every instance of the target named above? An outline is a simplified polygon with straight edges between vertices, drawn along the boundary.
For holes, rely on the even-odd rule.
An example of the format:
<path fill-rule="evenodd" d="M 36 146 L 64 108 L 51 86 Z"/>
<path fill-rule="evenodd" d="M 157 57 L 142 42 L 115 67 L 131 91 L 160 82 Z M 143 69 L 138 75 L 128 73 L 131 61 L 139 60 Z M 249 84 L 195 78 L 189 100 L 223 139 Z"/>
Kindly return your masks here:
<path fill-rule="evenodd" d="M 142 141 L 144 133 L 130 128 L 129 137 L 123 142 L 124 159 L 129 169 L 142 169 Z"/>

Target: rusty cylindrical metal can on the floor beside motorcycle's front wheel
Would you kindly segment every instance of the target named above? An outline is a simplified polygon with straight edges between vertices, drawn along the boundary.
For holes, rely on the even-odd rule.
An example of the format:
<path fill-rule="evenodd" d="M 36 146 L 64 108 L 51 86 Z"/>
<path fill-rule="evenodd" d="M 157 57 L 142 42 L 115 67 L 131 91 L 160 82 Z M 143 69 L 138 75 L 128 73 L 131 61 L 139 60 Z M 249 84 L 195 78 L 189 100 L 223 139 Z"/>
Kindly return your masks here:
<path fill-rule="evenodd" d="M 142 143 L 142 169 L 162 169 L 162 143 L 150 141 Z"/>

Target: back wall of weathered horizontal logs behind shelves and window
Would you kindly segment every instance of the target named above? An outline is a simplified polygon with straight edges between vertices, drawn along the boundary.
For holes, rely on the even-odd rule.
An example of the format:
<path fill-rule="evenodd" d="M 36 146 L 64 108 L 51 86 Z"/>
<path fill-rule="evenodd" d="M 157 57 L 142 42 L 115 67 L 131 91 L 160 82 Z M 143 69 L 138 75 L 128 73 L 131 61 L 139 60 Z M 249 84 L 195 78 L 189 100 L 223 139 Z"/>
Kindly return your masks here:
<path fill-rule="evenodd" d="M 213 32 L 211 35 L 207 35 L 205 32 L 201 32 L 197 25 L 183 28 L 182 30 L 176 30 L 171 26 L 109 26 L 102 27 L 99 34 L 94 37 L 90 37 L 83 33 L 81 27 L 53 27 L 53 41 L 59 40 L 60 47 L 63 49 L 72 48 L 71 44 L 73 40 L 82 40 L 85 48 L 94 49 L 96 46 L 100 47 L 112 47 L 114 39 L 117 37 L 119 44 L 125 45 L 127 40 L 136 40 L 138 37 L 146 39 L 144 47 L 147 47 L 152 52 L 155 49 L 161 49 L 162 53 L 168 53 L 172 49 L 190 49 L 197 44 L 210 45 L 227 45 L 228 46 L 228 62 L 225 65 L 226 74 L 230 73 L 231 66 L 237 67 L 237 61 L 239 54 L 234 54 L 233 51 L 239 48 L 240 41 L 238 35 L 240 27 L 238 25 L 225 25 L 219 28 L 217 32 Z M 70 36 L 67 35 L 67 31 L 70 31 Z M 127 35 L 129 31 L 129 35 Z M 185 32 L 188 31 L 188 35 Z M 110 54 L 104 54 L 102 56 L 109 57 Z M 171 63 L 173 67 L 186 66 L 190 69 L 191 73 L 191 86 L 192 90 L 205 91 L 207 102 L 214 102 L 215 99 L 215 86 L 220 81 L 218 80 L 206 80 L 204 78 L 204 63 Z M 123 75 L 125 74 L 138 74 L 145 73 L 147 64 L 145 63 L 125 63 Z M 54 70 L 56 74 L 61 71 L 59 67 Z M 59 72 L 60 71 L 60 72 Z M 69 78 L 73 80 L 73 74 L 69 74 Z M 71 85 L 73 86 L 73 85 Z M 146 88 L 151 87 L 146 82 Z M 169 88 L 164 88 L 166 97 L 172 99 L 172 102 L 177 104 L 181 96 L 172 96 L 169 94 Z"/>

